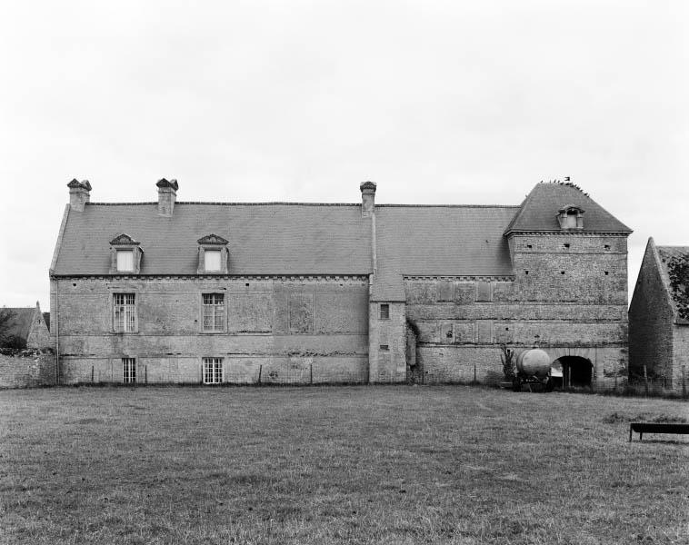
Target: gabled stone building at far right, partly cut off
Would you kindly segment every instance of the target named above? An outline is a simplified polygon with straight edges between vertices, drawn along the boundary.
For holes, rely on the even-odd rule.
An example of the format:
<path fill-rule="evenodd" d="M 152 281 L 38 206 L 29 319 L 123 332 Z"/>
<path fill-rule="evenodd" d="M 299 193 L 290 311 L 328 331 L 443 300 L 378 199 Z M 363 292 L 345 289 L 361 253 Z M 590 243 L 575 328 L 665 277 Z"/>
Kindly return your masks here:
<path fill-rule="evenodd" d="M 686 389 L 689 373 L 689 320 L 680 314 L 670 280 L 689 246 L 656 246 L 648 239 L 629 306 L 629 372 L 667 390 Z"/>

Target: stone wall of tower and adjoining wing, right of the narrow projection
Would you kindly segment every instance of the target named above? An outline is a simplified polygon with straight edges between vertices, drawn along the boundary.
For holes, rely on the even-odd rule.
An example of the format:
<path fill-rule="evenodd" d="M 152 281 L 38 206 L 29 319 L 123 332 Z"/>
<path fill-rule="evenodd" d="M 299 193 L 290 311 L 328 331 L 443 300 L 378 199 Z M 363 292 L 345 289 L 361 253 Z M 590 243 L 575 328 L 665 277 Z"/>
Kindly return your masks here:
<path fill-rule="evenodd" d="M 424 381 L 502 379 L 500 344 L 590 360 L 594 387 L 627 371 L 626 239 L 515 235 L 514 277 L 405 277 Z"/>

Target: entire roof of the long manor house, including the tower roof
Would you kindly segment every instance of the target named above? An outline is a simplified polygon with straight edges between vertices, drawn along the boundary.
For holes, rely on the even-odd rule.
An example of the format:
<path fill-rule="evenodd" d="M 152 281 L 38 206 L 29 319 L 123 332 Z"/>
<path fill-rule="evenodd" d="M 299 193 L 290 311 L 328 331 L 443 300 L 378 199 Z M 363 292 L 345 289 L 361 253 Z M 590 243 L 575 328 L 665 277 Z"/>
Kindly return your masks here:
<path fill-rule="evenodd" d="M 375 206 L 377 273 L 372 296 L 404 301 L 403 275 L 513 274 L 504 233 L 560 231 L 564 204 L 581 206 L 584 233 L 630 230 L 578 189 L 539 183 L 521 206 Z M 70 210 L 53 274 L 106 275 L 110 241 L 126 233 L 143 250 L 141 274 L 195 275 L 198 241 L 229 241 L 230 274 L 370 274 L 371 219 L 361 204 L 175 203 L 172 217 L 157 203 L 86 203 Z"/>

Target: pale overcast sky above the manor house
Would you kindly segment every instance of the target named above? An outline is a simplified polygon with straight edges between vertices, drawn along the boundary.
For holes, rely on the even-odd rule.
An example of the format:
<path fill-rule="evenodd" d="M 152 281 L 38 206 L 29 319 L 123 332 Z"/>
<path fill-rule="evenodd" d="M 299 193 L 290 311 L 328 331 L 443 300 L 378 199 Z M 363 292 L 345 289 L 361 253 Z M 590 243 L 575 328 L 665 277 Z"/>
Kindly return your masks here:
<path fill-rule="evenodd" d="M 518 204 L 571 176 L 689 245 L 684 0 L 6 2 L 0 305 L 49 310 L 72 178 L 94 202 Z M 630 293 L 631 297 L 631 293 Z"/>

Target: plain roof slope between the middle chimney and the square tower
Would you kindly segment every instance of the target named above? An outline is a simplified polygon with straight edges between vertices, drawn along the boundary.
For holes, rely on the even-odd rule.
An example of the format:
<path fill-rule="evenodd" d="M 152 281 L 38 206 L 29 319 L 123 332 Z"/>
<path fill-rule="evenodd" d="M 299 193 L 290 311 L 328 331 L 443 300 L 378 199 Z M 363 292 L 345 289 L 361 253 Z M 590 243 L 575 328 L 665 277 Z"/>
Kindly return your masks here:
<path fill-rule="evenodd" d="M 512 274 L 504 230 L 518 206 L 376 207 L 376 301 L 404 301 L 402 276 Z"/>

